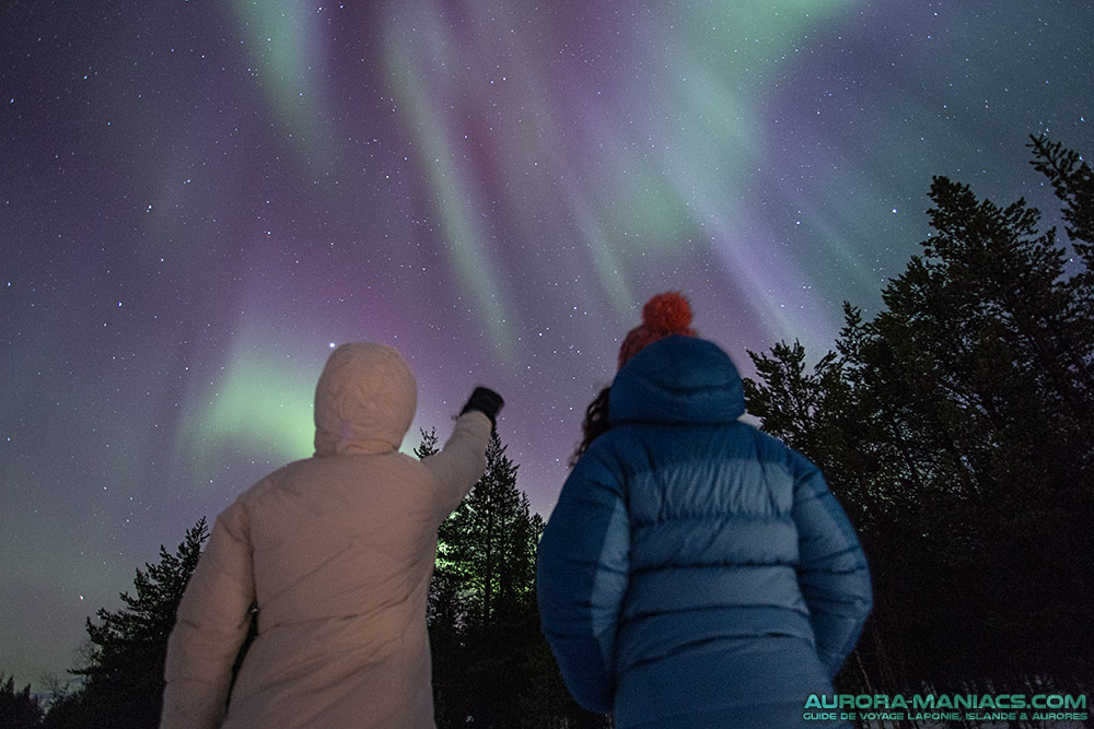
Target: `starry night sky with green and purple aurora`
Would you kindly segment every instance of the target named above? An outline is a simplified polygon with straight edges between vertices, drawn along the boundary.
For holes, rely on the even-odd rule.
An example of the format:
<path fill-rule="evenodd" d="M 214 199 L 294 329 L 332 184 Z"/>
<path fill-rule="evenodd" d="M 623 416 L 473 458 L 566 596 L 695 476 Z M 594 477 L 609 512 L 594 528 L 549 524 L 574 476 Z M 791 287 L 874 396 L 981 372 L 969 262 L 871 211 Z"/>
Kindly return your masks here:
<path fill-rule="evenodd" d="M 934 174 L 1057 207 L 1094 150 L 1087 0 L 5 0 L 0 672 L 311 454 L 330 349 L 418 427 L 476 384 L 547 516 L 652 294 L 819 356 L 927 235 Z"/>

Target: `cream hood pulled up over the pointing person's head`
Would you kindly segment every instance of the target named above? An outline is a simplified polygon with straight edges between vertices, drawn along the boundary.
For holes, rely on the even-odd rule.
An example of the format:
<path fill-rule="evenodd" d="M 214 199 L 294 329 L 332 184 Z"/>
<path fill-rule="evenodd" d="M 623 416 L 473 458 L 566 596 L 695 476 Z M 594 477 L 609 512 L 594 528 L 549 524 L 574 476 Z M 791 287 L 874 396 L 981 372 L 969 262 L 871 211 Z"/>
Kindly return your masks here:
<path fill-rule="evenodd" d="M 315 455 L 397 450 L 418 407 L 403 356 L 371 342 L 342 344 L 315 387 Z"/>

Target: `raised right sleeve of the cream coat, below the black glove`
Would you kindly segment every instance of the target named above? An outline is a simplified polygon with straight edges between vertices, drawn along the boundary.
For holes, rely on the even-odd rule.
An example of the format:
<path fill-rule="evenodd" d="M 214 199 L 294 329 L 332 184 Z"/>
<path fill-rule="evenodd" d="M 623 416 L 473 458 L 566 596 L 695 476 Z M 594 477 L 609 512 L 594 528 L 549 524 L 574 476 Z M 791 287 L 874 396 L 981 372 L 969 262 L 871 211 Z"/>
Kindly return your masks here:
<path fill-rule="evenodd" d="M 456 419 L 444 447 L 422 459 L 440 489 L 438 522 L 444 521 L 482 478 L 490 430 L 489 418 L 477 410 L 466 412 Z"/>

